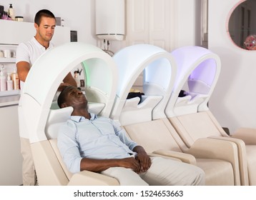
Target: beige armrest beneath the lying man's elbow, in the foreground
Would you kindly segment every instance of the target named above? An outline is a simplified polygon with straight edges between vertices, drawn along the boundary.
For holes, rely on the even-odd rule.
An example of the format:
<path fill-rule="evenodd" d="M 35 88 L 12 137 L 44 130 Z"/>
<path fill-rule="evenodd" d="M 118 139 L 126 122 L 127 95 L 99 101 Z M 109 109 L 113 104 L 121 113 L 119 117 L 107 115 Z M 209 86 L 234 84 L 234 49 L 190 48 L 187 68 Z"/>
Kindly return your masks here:
<path fill-rule="evenodd" d="M 92 171 L 80 171 L 69 180 L 69 186 L 119 186 L 119 181 L 110 176 Z"/>

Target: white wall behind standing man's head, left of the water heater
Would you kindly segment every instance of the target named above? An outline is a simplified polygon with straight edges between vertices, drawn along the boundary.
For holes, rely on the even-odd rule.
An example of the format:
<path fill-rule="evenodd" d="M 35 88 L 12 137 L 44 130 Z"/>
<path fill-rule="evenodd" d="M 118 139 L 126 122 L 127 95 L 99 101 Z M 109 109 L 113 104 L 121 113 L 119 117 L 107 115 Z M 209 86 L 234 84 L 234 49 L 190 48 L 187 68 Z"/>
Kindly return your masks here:
<path fill-rule="evenodd" d="M 96 45 L 94 39 L 94 15 L 91 10 L 94 0 L 80 1 L 33 1 L 33 0 L 1 0 L 0 5 L 8 10 L 10 2 L 13 4 L 15 16 L 24 16 L 24 21 L 34 22 L 34 16 L 40 9 L 49 9 L 55 16 L 64 19 L 64 25 L 71 30 L 78 31 L 78 41 Z M 2 31 L 2 30 L 1 30 Z M 22 30 L 21 30 L 22 31 Z"/>

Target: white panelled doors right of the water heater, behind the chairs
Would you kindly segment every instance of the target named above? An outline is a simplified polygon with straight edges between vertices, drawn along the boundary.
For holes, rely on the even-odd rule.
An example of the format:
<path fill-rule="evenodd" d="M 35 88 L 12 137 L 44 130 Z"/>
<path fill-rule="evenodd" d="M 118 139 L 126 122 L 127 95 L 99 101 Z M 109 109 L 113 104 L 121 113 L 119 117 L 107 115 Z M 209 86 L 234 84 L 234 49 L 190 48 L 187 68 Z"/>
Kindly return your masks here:
<path fill-rule="evenodd" d="M 166 51 L 196 45 L 199 21 L 198 0 L 127 0 L 126 45 L 154 44 Z"/>

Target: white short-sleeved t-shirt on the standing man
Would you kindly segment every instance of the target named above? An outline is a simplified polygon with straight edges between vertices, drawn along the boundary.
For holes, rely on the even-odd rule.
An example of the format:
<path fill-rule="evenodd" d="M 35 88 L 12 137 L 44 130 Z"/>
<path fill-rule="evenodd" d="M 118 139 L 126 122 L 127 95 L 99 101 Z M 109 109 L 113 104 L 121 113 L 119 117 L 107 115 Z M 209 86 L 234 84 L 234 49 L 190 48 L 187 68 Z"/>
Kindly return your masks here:
<path fill-rule="evenodd" d="M 54 47 L 53 44 L 49 44 L 48 49 L 45 49 L 34 37 L 27 42 L 19 44 L 16 49 L 16 64 L 19 61 L 26 61 L 30 64 L 30 67 L 33 66 L 34 62 L 44 54 L 45 51 Z M 23 89 L 24 82 L 20 81 L 20 88 Z"/>

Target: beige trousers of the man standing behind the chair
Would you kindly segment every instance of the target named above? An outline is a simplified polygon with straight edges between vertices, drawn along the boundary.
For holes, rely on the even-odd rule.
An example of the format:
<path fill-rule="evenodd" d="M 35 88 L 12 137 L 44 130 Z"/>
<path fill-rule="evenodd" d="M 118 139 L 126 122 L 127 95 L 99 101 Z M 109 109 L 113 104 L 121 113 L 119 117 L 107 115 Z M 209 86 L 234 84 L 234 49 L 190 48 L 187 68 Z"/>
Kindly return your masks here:
<path fill-rule="evenodd" d="M 22 179 L 24 186 L 36 185 L 36 171 L 34 168 L 33 156 L 29 139 L 21 138 Z"/>

